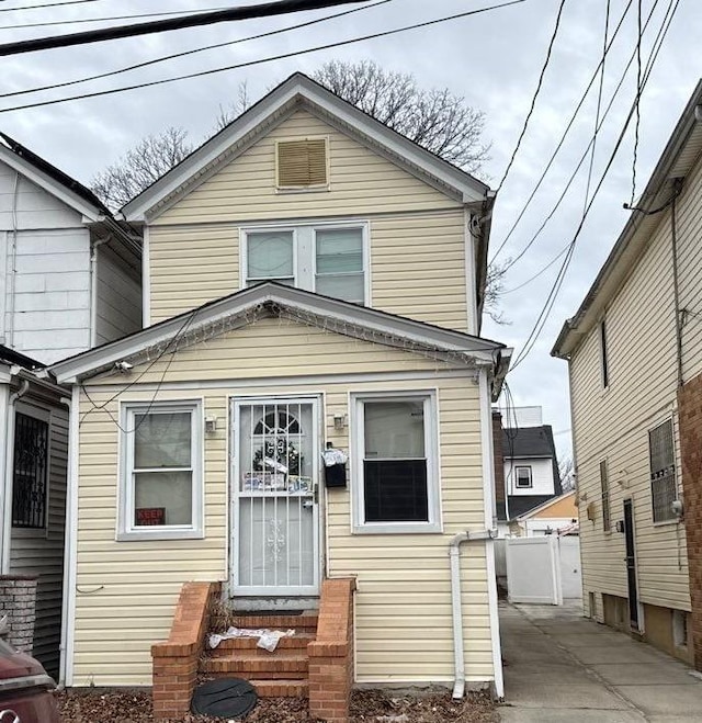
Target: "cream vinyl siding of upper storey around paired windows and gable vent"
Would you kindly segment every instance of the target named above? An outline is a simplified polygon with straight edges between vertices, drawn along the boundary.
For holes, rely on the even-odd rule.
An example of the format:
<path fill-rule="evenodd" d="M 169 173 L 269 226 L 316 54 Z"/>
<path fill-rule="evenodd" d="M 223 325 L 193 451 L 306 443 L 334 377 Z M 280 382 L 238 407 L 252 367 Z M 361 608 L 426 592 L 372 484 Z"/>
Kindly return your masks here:
<path fill-rule="evenodd" d="M 275 142 L 329 138 L 329 190 L 275 188 Z M 151 323 L 240 289 L 242 226 L 369 224 L 372 306 L 468 328 L 463 205 L 306 111 L 297 111 L 149 227 Z"/>

